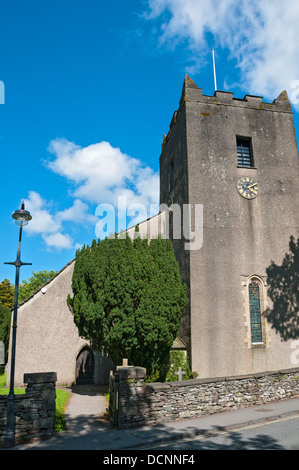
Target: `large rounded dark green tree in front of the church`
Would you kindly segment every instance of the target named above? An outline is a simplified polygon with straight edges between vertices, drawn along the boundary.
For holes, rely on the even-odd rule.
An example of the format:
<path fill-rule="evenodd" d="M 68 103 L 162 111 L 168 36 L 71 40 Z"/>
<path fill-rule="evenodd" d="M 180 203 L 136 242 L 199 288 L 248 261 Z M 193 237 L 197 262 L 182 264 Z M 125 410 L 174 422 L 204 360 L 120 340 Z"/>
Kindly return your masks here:
<path fill-rule="evenodd" d="M 187 304 L 169 240 L 106 238 L 76 253 L 68 298 L 79 334 L 115 364 L 162 370 Z"/>

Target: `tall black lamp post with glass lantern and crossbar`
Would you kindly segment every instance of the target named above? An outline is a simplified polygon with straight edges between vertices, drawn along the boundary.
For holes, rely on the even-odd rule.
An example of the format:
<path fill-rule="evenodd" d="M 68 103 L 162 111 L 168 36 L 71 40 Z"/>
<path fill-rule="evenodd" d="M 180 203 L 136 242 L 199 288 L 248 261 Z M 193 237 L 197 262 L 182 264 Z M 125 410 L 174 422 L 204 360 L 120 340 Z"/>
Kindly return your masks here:
<path fill-rule="evenodd" d="M 19 297 L 19 275 L 20 267 L 24 264 L 21 261 L 21 239 L 22 229 L 27 225 L 29 220 L 32 219 L 30 212 L 25 210 L 25 204 L 22 202 L 21 209 L 16 210 L 12 217 L 15 219 L 17 225 L 20 226 L 19 245 L 17 251 L 17 259 L 12 263 L 16 267 L 16 282 L 15 282 L 15 299 L 14 299 L 14 312 L 12 322 L 12 347 L 11 347 L 11 366 L 10 366 L 10 389 L 7 398 L 7 419 L 6 419 L 6 434 L 4 436 L 4 446 L 11 447 L 15 443 L 15 394 L 14 394 L 14 377 L 15 377 L 15 357 L 16 357 L 16 335 L 17 335 L 17 314 L 18 314 L 18 297 Z"/>

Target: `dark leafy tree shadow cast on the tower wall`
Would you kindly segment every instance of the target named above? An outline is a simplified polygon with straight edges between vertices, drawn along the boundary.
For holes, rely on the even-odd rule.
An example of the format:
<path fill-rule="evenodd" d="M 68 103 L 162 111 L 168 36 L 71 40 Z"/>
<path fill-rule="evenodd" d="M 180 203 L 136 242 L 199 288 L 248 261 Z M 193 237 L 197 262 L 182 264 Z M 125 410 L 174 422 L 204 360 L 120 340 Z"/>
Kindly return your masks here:
<path fill-rule="evenodd" d="M 273 261 L 266 269 L 268 296 L 272 306 L 266 312 L 272 328 L 287 341 L 299 338 L 299 239 L 290 237 L 289 252 L 281 266 Z"/>

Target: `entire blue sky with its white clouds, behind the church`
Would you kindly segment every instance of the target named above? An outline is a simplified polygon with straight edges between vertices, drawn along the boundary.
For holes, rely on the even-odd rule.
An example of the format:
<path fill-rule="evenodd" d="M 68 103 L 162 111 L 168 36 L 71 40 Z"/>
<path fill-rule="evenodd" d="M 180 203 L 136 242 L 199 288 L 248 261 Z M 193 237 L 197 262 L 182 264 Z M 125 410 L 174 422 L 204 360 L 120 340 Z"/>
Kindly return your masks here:
<path fill-rule="evenodd" d="M 163 134 L 185 73 L 204 94 L 287 90 L 299 131 L 296 0 L 11 0 L 0 6 L 0 280 L 60 270 L 96 237 L 96 208 L 159 200 Z M 0 82 L 0 85 L 1 85 Z M 1 87 L 0 87 L 1 103 Z"/>

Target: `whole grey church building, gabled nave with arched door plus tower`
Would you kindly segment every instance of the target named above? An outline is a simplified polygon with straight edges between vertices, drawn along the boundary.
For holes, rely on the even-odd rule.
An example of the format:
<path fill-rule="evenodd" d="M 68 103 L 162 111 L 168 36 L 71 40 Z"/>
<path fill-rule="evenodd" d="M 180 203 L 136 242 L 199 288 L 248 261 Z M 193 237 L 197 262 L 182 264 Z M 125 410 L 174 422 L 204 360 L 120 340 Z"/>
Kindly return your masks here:
<path fill-rule="evenodd" d="M 298 181 L 286 92 L 273 103 L 223 91 L 206 96 L 185 76 L 160 155 L 161 212 L 139 230 L 173 242 L 189 295 L 176 344 L 200 378 L 294 367 L 292 341 L 281 340 L 264 312 L 267 268 L 281 265 L 290 237 L 298 238 Z M 200 240 L 194 246 L 183 227 L 187 209 L 189 232 Z M 43 371 L 57 372 L 61 385 L 108 381 L 114 365 L 79 337 L 66 304 L 73 267 L 19 307 L 16 385 L 24 373 Z"/>

